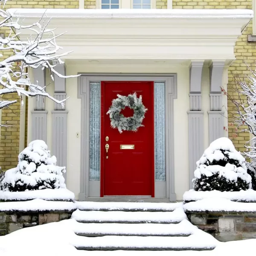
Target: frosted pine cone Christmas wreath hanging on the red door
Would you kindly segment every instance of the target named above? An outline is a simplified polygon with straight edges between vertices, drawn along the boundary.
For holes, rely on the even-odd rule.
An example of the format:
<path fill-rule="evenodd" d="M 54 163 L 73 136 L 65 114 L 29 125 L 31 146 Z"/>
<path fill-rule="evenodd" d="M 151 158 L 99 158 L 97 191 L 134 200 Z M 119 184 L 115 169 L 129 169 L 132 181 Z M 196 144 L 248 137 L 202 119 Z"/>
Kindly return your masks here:
<path fill-rule="evenodd" d="M 125 117 L 120 112 L 125 107 L 134 110 L 134 115 L 131 117 Z M 142 96 L 137 98 L 136 93 L 129 94 L 128 96 L 122 96 L 117 94 L 117 98 L 112 100 L 112 105 L 109 108 L 107 114 L 109 114 L 111 120 L 111 127 L 117 128 L 120 133 L 122 131 L 137 131 L 142 125 L 142 121 L 145 117 L 145 112 L 148 109 L 142 104 Z"/>

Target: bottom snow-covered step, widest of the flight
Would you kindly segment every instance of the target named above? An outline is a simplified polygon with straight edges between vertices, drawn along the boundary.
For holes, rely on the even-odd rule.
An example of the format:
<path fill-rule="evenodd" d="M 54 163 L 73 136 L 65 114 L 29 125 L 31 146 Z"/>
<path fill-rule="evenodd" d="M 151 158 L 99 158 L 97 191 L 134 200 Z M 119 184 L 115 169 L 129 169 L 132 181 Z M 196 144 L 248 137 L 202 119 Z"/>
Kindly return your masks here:
<path fill-rule="evenodd" d="M 216 241 L 213 237 L 211 239 L 194 234 L 187 237 L 77 236 L 72 244 L 79 250 L 212 250 Z"/>

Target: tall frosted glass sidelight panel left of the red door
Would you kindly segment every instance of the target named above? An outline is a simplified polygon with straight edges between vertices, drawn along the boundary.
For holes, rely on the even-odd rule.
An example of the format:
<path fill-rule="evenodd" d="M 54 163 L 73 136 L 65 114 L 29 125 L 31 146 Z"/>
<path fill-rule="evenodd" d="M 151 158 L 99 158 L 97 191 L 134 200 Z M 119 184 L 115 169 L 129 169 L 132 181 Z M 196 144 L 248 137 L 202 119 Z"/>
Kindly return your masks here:
<path fill-rule="evenodd" d="M 99 180 L 100 82 L 90 82 L 90 180 Z"/>

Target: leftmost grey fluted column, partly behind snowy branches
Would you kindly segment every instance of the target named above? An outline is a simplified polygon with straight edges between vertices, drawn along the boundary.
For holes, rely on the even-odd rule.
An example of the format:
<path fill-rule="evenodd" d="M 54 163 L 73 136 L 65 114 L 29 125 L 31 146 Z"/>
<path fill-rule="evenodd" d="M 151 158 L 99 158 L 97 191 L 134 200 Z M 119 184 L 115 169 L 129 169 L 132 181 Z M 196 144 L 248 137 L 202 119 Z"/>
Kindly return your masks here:
<path fill-rule="evenodd" d="M 45 87 L 46 70 L 41 67 L 33 70 L 34 84 Z M 44 140 L 46 143 L 47 113 L 45 110 L 45 96 L 34 97 L 34 110 L 32 113 L 32 140 Z"/>

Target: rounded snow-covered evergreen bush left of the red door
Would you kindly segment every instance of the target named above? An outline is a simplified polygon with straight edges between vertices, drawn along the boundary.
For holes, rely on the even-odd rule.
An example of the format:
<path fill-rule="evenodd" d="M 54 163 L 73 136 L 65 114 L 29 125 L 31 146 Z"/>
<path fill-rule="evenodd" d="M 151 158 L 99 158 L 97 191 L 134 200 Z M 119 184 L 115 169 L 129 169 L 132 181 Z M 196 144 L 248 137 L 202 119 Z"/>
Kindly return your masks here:
<path fill-rule="evenodd" d="M 66 188 L 63 174 L 66 167 L 56 165 L 43 140 L 34 140 L 19 154 L 17 167 L 5 172 L 4 191 Z"/>

